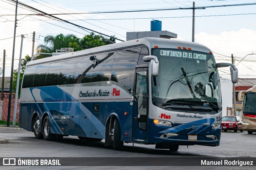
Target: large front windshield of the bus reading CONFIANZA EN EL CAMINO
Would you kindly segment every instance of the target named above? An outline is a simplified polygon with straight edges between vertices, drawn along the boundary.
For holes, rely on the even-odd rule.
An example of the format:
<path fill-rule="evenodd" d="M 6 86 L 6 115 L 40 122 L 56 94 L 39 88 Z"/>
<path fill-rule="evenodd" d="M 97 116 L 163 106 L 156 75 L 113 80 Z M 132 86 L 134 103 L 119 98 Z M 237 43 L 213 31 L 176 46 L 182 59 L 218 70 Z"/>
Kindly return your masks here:
<path fill-rule="evenodd" d="M 152 49 L 159 73 L 152 78 L 152 101 L 180 111 L 221 110 L 220 80 L 214 56 L 182 49 Z"/>

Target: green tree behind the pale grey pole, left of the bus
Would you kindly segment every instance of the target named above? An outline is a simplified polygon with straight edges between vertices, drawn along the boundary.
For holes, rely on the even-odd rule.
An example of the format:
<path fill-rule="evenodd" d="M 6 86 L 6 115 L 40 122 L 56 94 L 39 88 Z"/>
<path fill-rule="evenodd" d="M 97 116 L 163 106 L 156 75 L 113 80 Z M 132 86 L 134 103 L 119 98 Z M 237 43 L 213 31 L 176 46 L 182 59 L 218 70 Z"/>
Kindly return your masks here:
<path fill-rule="evenodd" d="M 21 82 L 24 75 L 24 71 L 26 68 L 26 63 L 31 60 L 31 57 L 29 55 L 25 56 L 25 59 L 22 59 L 21 67 L 20 67 L 20 84 L 19 84 L 19 94 L 18 97 L 20 97 L 20 89 L 21 89 Z M 17 86 L 17 78 L 18 78 L 18 71 L 13 72 L 13 81 L 12 81 L 12 92 L 16 92 L 16 86 Z"/>

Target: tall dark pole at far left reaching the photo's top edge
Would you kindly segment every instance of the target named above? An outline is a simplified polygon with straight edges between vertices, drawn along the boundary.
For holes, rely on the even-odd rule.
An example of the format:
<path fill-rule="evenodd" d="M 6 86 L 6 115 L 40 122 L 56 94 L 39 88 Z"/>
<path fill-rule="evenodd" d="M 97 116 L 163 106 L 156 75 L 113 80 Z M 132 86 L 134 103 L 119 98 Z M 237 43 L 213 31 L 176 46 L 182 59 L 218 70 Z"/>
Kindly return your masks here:
<path fill-rule="evenodd" d="M 9 90 L 9 102 L 8 102 L 8 114 L 7 114 L 7 126 L 8 126 L 8 127 L 10 126 L 11 104 L 12 104 L 12 78 L 13 78 L 13 64 L 14 64 L 16 26 L 17 26 L 17 8 L 18 8 L 18 0 L 16 0 L 15 23 L 14 23 L 14 36 L 13 36 L 13 47 L 12 47 L 12 68 L 11 68 L 10 90 Z"/>

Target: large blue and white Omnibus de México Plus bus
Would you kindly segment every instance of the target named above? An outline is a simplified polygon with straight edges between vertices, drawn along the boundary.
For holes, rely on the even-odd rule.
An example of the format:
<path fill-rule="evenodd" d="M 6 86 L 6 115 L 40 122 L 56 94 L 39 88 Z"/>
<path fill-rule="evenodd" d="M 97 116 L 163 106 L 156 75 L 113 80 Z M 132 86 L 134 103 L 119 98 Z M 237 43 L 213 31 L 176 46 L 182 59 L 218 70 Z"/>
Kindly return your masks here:
<path fill-rule="evenodd" d="M 218 67 L 198 43 L 143 38 L 30 61 L 19 126 L 45 140 L 78 136 L 121 150 L 125 143 L 218 146 Z"/>

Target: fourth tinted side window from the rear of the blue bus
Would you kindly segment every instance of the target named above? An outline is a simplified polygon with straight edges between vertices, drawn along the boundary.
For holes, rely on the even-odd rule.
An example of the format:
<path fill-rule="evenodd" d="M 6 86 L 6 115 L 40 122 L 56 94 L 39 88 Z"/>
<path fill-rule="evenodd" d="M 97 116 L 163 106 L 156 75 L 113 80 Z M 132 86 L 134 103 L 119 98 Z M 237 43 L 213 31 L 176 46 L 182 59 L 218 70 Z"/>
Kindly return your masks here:
<path fill-rule="evenodd" d="M 78 59 L 64 61 L 60 71 L 59 84 L 74 84 Z"/>

